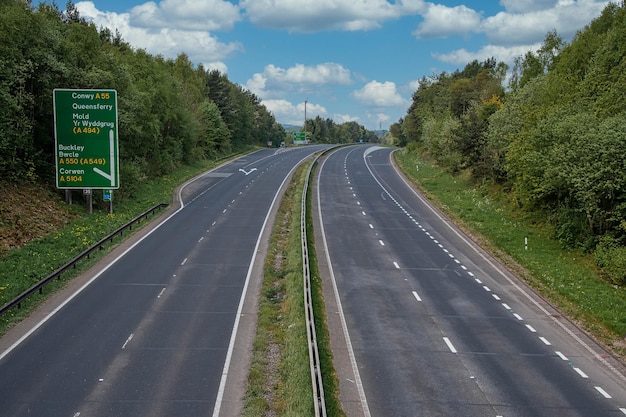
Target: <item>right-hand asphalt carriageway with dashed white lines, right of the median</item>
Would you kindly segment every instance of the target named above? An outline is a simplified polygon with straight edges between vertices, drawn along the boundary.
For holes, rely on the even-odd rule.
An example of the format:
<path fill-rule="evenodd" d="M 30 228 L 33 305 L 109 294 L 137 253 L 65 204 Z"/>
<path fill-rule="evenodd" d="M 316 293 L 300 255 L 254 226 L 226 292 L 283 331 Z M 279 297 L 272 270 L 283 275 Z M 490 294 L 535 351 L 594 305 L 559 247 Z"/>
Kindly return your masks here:
<path fill-rule="evenodd" d="M 317 184 L 348 414 L 626 415 L 624 369 L 433 210 L 391 151 L 339 149 Z"/>

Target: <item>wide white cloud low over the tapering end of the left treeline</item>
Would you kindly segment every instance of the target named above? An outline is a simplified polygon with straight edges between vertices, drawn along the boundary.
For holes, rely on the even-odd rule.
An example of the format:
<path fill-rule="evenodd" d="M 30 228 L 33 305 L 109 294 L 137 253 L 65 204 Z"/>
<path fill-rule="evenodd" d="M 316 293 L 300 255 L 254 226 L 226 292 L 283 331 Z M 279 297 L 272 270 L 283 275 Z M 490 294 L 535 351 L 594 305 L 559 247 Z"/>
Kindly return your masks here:
<path fill-rule="evenodd" d="M 262 73 L 254 74 L 246 82 L 246 88 L 259 97 L 273 98 L 290 91 L 305 93 L 312 89 L 351 83 L 350 70 L 333 62 L 315 66 L 296 64 L 287 69 L 270 64 Z"/>

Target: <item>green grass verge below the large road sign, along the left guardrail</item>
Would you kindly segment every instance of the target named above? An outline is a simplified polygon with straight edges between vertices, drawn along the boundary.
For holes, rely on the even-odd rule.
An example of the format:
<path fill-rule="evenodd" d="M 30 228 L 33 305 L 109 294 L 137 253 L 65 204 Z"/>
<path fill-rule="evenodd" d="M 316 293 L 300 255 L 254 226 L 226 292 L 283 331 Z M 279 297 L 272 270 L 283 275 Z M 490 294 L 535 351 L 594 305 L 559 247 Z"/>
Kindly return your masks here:
<path fill-rule="evenodd" d="M 65 226 L 47 233 L 42 238 L 32 240 L 18 249 L 6 251 L 0 257 L 0 305 L 5 305 L 145 210 L 159 203 L 171 202 L 173 192 L 179 184 L 216 165 L 215 161 L 203 161 L 180 167 L 164 177 L 146 181 L 133 190 L 132 196 L 120 202 L 114 201 L 113 214 L 108 214 L 103 204 L 98 205 L 97 193 L 94 196 L 94 213 L 91 215 L 87 214 L 82 203 L 75 203 L 71 206 L 57 204 L 61 206 L 60 213 L 57 215 L 65 215 L 70 219 Z M 145 223 L 133 227 L 132 232 L 140 230 L 142 224 Z M 125 233 L 124 237 L 130 236 L 131 233 Z M 81 261 L 76 269 L 64 274 L 60 280 L 48 284 L 42 294 L 33 294 L 22 303 L 20 309 L 14 308 L 0 317 L 0 335 L 27 317 L 48 295 L 93 266 L 121 242 L 122 240 L 119 239 L 107 245 L 104 250 L 94 252 L 89 259 Z"/>

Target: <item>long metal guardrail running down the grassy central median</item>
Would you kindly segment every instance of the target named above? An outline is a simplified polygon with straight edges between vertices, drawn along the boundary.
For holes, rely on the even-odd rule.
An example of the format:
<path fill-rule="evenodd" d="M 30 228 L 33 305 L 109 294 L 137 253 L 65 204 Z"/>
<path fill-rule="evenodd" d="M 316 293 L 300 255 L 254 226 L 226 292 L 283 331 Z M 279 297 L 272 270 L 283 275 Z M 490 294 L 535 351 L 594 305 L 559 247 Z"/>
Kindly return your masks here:
<path fill-rule="evenodd" d="M 309 171 L 304 181 L 302 191 L 302 209 L 300 211 L 300 232 L 302 236 L 302 273 L 304 278 L 304 308 L 306 312 L 306 332 L 309 345 L 309 361 L 311 365 L 311 382 L 313 383 L 313 400 L 315 401 L 315 417 L 326 417 L 326 400 L 324 399 L 324 385 L 322 383 L 322 369 L 320 365 L 319 351 L 317 348 L 317 335 L 315 333 L 315 317 L 313 316 L 313 301 L 311 298 L 311 273 L 309 266 L 309 249 L 307 245 L 306 217 L 309 190 L 309 178 L 317 158 L 309 165 Z"/>

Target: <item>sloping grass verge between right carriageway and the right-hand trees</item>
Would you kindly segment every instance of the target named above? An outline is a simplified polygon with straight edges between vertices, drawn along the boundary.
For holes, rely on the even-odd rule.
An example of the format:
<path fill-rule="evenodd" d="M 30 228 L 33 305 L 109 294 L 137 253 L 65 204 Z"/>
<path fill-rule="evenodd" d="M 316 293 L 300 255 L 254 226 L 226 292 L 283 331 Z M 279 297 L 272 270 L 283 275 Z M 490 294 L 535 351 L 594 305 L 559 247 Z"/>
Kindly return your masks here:
<path fill-rule="evenodd" d="M 401 150 L 394 156 L 405 175 L 446 215 L 624 360 L 626 289 L 600 279 L 589 255 L 563 249 L 547 222 L 530 219 L 506 200 L 419 155 Z"/>

